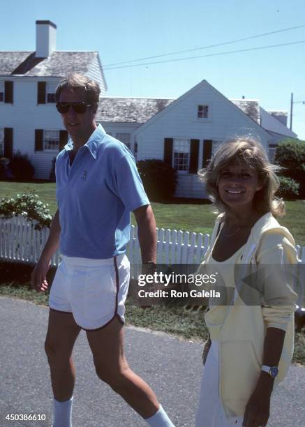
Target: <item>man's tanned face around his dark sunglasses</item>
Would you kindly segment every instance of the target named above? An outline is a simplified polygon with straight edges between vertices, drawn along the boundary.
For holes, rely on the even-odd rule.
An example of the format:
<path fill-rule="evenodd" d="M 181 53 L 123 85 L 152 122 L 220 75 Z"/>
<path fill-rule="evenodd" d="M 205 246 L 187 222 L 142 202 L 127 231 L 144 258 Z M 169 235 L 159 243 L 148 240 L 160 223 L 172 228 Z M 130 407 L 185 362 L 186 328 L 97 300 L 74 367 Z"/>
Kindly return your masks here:
<path fill-rule="evenodd" d="M 69 89 L 63 89 L 59 98 L 59 102 L 87 104 L 84 91 L 76 90 L 71 92 Z M 70 107 L 67 113 L 61 114 L 61 119 L 71 137 L 82 137 L 87 136 L 88 133 L 91 133 L 94 116 L 95 114 L 92 111 L 92 107 L 87 107 L 87 111 L 85 111 L 83 114 L 75 112 L 73 108 Z"/>

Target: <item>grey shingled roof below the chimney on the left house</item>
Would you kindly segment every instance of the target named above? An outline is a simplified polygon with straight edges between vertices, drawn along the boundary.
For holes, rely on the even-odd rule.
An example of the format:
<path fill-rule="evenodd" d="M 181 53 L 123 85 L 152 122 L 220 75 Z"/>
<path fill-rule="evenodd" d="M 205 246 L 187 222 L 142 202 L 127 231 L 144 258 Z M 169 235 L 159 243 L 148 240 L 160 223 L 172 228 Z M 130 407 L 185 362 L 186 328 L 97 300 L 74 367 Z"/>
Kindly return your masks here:
<path fill-rule="evenodd" d="M 47 58 L 35 52 L 0 52 L 0 75 L 29 77 L 65 77 L 67 71 L 87 73 L 98 52 L 54 51 Z"/>

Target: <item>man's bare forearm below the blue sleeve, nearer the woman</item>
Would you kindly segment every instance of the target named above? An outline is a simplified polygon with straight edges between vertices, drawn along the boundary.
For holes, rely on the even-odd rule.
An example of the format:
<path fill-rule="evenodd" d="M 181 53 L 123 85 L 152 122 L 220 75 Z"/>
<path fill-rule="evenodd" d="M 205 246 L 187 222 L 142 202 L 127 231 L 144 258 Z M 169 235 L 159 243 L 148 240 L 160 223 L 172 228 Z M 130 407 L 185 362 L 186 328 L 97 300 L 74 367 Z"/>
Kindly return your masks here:
<path fill-rule="evenodd" d="M 156 220 L 150 204 L 133 211 L 137 221 L 137 237 L 139 239 L 142 263 L 156 262 Z"/>

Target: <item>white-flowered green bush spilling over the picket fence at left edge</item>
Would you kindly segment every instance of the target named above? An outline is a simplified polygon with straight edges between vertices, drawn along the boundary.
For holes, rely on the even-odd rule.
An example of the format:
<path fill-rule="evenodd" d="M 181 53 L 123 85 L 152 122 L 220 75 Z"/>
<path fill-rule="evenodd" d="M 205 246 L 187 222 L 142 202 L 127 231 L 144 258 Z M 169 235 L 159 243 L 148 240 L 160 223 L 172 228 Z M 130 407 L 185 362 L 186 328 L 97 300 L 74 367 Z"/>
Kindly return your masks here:
<path fill-rule="evenodd" d="M 33 191 L 29 194 L 17 194 L 13 197 L 3 197 L 0 202 L 0 216 L 12 218 L 13 216 L 24 216 L 30 221 L 37 221 L 35 230 L 49 227 L 52 222 L 52 215 L 47 208 L 48 204 L 43 204 L 38 195 Z"/>

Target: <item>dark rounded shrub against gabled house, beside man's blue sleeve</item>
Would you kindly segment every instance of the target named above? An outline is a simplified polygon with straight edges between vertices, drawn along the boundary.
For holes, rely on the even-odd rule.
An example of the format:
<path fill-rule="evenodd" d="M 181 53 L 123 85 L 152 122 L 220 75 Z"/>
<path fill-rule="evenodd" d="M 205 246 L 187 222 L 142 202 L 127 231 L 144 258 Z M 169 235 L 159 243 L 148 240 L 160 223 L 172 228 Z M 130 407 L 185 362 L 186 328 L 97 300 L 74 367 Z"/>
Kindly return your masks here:
<path fill-rule="evenodd" d="M 168 163 L 156 159 L 139 160 L 137 170 L 149 199 L 162 201 L 174 196 L 177 174 Z"/>

